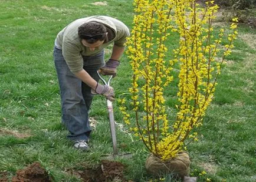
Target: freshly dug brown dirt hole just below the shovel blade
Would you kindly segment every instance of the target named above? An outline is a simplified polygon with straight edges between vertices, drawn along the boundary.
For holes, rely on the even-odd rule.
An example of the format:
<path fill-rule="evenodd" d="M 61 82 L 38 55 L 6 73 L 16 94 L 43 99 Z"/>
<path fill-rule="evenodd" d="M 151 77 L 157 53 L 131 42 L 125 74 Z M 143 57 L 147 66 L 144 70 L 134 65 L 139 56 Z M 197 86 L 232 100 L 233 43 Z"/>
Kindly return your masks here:
<path fill-rule="evenodd" d="M 96 168 L 86 167 L 84 170 L 67 170 L 67 173 L 73 174 L 82 181 L 102 182 L 102 181 L 120 181 L 132 182 L 125 180 L 123 177 L 124 165 L 117 161 L 102 160 Z"/>

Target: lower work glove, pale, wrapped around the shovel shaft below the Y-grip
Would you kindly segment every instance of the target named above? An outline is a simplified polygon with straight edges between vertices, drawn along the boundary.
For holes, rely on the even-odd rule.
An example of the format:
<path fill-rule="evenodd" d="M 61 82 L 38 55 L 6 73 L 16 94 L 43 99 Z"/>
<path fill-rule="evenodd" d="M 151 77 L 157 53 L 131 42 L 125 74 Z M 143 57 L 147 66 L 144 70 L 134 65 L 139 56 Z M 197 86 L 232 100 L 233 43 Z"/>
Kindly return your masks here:
<path fill-rule="evenodd" d="M 106 96 L 111 102 L 114 101 L 114 89 L 111 86 L 97 83 L 96 90 L 91 89 L 91 93 Z"/>

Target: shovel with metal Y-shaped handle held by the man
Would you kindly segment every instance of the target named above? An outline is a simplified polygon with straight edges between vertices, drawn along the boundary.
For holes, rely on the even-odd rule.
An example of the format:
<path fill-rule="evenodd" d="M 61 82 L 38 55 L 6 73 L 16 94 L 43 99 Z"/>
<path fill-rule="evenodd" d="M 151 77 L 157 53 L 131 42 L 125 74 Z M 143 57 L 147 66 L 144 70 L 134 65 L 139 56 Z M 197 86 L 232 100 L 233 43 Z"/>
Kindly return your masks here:
<path fill-rule="evenodd" d="M 100 76 L 100 73 L 97 72 L 100 80 L 104 83 L 104 85 L 110 86 L 110 80 L 113 78 L 113 75 L 109 77 L 109 80 L 104 80 L 103 77 Z M 110 133 L 111 133 L 111 139 L 112 139 L 112 144 L 113 144 L 113 155 L 109 156 L 106 155 L 105 157 L 112 159 L 117 156 L 126 156 L 127 158 L 132 157 L 132 154 L 126 153 L 123 155 L 119 155 L 117 151 L 117 140 L 116 140 L 116 124 L 114 123 L 114 112 L 113 112 L 113 104 L 112 102 L 107 99 L 107 110 L 109 112 L 109 124 L 110 124 Z"/>

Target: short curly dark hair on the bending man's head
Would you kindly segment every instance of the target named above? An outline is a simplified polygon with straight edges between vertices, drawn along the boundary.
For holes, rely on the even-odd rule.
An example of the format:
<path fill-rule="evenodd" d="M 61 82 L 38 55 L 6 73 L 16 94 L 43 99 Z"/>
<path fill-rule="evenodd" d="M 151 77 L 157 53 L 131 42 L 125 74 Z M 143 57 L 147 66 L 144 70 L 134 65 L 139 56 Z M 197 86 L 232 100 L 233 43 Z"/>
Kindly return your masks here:
<path fill-rule="evenodd" d="M 88 43 L 107 42 L 107 29 L 99 22 L 87 22 L 78 27 L 78 36 Z"/>

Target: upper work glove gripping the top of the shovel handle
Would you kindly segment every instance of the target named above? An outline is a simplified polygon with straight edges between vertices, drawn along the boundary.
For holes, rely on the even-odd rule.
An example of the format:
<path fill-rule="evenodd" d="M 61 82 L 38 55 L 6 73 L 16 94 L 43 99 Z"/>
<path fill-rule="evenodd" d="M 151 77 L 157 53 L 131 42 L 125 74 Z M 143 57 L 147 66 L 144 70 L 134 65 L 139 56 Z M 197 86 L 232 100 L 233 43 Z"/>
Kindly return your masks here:
<path fill-rule="evenodd" d="M 100 68 L 101 75 L 113 75 L 116 76 L 116 69 L 120 62 L 118 60 L 109 59 L 106 64 Z"/>

